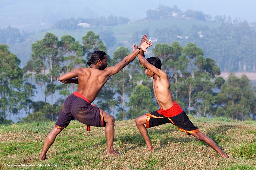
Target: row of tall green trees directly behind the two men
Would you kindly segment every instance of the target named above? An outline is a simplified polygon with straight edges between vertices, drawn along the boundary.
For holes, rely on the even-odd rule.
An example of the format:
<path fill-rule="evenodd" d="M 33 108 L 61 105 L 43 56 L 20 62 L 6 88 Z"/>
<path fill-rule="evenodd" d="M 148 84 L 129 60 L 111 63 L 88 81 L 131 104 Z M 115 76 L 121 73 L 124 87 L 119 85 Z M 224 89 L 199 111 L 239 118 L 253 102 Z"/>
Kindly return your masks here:
<path fill-rule="evenodd" d="M 22 110 L 27 114 L 22 122 L 56 120 L 64 99 L 76 90 L 75 84 L 59 84 L 58 77 L 76 67 L 87 67 L 86 61 L 93 51 L 107 49 L 93 31 L 82 39 L 81 44 L 70 35 L 58 40 L 56 35 L 46 33 L 32 44 L 31 58 L 23 69 L 8 46 L 0 45 L 2 124 L 11 123 L 11 115 Z M 203 50 L 194 43 L 184 47 L 177 41 L 170 45 L 156 43 L 152 53 L 161 59 L 161 69 L 169 75 L 174 100 L 189 115 L 255 119 L 256 87 L 251 87 L 247 76 L 237 78 L 231 73 L 225 81 L 218 76 L 220 68 L 215 61 L 204 58 Z M 108 57 L 108 63 L 115 65 L 129 54 L 128 48 L 120 46 Z M 37 92 L 44 95 L 43 101 L 33 100 Z M 62 97 L 54 101 L 56 93 Z M 158 109 L 152 80 L 145 76 L 138 60 L 111 76 L 94 103 L 117 120 L 134 119 Z"/>

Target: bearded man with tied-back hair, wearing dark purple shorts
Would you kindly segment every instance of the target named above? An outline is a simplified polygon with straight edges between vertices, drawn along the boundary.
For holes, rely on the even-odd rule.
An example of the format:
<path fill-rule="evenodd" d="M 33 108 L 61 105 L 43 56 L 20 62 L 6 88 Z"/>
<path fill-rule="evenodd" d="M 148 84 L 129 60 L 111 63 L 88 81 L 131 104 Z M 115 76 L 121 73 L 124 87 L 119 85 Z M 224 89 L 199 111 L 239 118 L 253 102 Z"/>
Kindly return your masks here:
<path fill-rule="evenodd" d="M 136 58 L 140 50 L 147 52 L 151 41 L 148 40 L 145 34 L 141 40 L 138 49 L 127 55 L 123 61 L 120 61 L 113 67 L 107 67 L 107 54 L 103 51 L 95 51 L 92 53 L 91 59 L 88 60 L 89 68 L 76 68 L 71 72 L 65 73 L 59 77 L 62 83 L 76 83 L 77 90 L 65 100 L 62 105 L 60 115 L 58 116 L 55 127 L 47 135 L 42 153 L 39 160 L 46 159 L 46 153 L 50 146 L 55 141 L 56 136 L 62 129 L 67 127 L 70 121 L 76 119 L 83 124 L 89 126 L 105 127 L 105 134 L 107 138 L 107 155 L 120 155 L 114 150 L 114 117 L 104 112 L 100 108 L 91 105 L 93 100 L 98 96 L 101 88 L 107 82 L 108 78 L 118 73 L 123 67 L 129 64 Z"/>

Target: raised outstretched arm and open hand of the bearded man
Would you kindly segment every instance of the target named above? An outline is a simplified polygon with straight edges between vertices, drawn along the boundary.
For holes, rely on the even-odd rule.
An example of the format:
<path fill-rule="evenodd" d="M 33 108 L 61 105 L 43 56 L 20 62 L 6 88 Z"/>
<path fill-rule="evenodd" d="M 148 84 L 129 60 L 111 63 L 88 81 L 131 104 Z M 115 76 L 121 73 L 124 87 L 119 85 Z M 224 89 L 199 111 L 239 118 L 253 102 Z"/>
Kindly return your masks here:
<path fill-rule="evenodd" d="M 145 51 L 148 52 L 146 49 L 148 47 L 152 46 L 152 42 L 150 40 L 148 40 L 147 35 L 145 34 L 141 40 L 140 43 L 140 48 Z M 132 62 L 136 56 L 139 54 L 140 50 L 139 49 L 135 49 L 132 53 L 130 53 L 129 55 L 127 55 L 122 61 L 120 61 L 119 63 L 117 63 L 117 65 L 113 66 L 113 67 L 107 67 L 105 70 L 105 72 L 108 74 L 108 76 L 111 76 L 113 74 L 118 73 L 120 70 L 123 69 L 123 67 L 125 67 L 126 65 L 128 65 L 130 62 Z"/>

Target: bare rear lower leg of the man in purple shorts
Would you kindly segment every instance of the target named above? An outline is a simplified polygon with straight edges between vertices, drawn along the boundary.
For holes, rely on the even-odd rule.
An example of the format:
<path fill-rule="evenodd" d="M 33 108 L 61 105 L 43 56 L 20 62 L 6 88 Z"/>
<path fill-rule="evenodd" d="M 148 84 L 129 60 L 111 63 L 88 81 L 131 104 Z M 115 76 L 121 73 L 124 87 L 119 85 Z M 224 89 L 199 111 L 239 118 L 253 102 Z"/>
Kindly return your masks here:
<path fill-rule="evenodd" d="M 56 127 L 53 127 L 52 131 L 47 135 L 39 160 L 46 159 L 46 153 L 48 149 L 52 146 L 56 136 L 61 132 L 61 130 L 62 129 L 57 129 Z"/>

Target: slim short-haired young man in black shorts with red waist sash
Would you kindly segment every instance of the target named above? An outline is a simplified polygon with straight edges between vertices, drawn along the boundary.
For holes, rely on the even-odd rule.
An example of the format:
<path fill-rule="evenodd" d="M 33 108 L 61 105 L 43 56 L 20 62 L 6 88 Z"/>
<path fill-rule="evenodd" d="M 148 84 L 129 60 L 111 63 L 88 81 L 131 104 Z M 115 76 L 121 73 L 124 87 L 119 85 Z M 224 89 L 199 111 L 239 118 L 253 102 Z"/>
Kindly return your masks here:
<path fill-rule="evenodd" d="M 136 50 L 137 45 L 133 45 L 133 50 Z M 176 125 L 179 130 L 186 132 L 187 135 L 195 136 L 196 139 L 204 141 L 207 145 L 217 151 L 221 157 L 228 156 L 216 145 L 216 143 L 208 136 L 201 133 L 197 127 L 189 120 L 186 113 L 173 100 L 172 92 L 170 90 L 170 80 L 168 75 L 161 70 L 161 60 L 157 57 L 145 58 L 144 52 L 141 50 L 138 54 L 139 63 L 144 67 L 145 73 L 148 77 L 153 77 L 153 90 L 155 99 L 160 106 L 158 111 L 147 113 L 136 118 L 136 126 L 144 138 L 147 149 L 144 151 L 155 151 L 149 139 L 146 127 L 154 127 L 161 124 L 172 123 Z M 146 127 L 145 127 L 146 124 Z"/>

